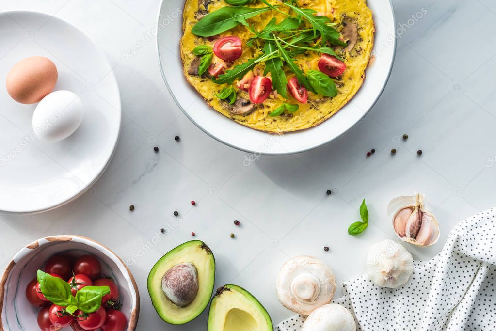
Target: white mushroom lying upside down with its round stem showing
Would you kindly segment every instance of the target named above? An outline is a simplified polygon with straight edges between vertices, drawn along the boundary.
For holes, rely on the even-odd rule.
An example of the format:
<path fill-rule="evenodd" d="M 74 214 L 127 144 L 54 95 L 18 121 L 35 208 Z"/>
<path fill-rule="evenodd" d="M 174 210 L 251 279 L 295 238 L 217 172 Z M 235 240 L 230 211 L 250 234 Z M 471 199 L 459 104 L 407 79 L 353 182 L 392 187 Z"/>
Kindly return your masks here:
<path fill-rule="evenodd" d="M 310 315 L 331 302 L 336 280 L 331 269 L 311 256 L 297 256 L 287 261 L 277 277 L 276 291 L 284 307 Z"/>

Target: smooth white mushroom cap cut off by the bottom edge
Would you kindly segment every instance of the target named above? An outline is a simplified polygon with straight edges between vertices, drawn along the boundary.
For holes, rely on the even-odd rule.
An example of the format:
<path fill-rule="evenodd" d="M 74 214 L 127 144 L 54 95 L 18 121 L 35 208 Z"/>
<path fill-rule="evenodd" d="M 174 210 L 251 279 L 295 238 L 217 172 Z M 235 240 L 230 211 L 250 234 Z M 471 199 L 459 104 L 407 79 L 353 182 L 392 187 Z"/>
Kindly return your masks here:
<path fill-rule="evenodd" d="M 357 325 L 350 311 L 338 304 L 324 305 L 310 314 L 302 331 L 356 331 Z"/>

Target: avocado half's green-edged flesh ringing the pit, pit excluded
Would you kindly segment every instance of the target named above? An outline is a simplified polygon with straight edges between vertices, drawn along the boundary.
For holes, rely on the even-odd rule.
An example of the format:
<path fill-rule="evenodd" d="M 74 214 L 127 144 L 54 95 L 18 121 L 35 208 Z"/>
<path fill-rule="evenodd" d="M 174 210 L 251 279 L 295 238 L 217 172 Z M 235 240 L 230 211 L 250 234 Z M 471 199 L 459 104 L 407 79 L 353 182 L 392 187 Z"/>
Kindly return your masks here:
<path fill-rule="evenodd" d="M 198 291 L 184 307 L 174 304 L 162 289 L 162 277 L 174 266 L 191 263 L 196 267 Z M 192 240 L 172 249 L 153 266 L 148 275 L 148 293 L 157 314 L 167 323 L 185 324 L 200 315 L 212 297 L 215 281 L 215 259 L 202 241 Z"/>

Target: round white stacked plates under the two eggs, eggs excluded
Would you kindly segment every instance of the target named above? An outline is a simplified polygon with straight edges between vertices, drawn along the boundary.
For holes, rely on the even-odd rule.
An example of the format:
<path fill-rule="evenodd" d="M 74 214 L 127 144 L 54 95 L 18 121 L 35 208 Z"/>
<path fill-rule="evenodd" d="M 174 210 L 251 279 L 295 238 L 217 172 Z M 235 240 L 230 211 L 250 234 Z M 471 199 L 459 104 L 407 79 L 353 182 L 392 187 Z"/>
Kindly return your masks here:
<path fill-rule="evenodd" d="M 57 90 L 79 95 L 81 126 L 56 143 L 35 137 L 35 105 L 7 94 L 10 68 L 29 56 L 52 59 L 59 71 Z M 0 211 L 28 214 L 72 201 L 93 184 L 114 154 L 121 129 L 121 98 L 106 56 L 82 31 L 48 14 L 0 13 Z"/>

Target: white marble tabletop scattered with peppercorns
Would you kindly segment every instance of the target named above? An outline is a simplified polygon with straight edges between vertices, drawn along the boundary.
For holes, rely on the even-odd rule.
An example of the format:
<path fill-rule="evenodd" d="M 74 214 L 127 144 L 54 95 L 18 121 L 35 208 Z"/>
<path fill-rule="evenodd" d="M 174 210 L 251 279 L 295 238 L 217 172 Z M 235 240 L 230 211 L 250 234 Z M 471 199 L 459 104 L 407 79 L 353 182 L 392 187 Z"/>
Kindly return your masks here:
<path fill-rule="evenodd" d="M 438 253 L 458 221 L 494 207 L 494 1 L 395 0 L 396 63 L 367 118 L 327 146 L 249 166 L 245 153 L 202 133 L 168 94 L 149 35 L 159 6 L 158 0 L 1 1 L 0 10 L 48 12 L 92 37 L 114 66 L 124 122 L 114 160 L 87 194 L 46 214 L 0 216 L 0 266 L 39 237 L 88 236 L 124 260 L 140 255 L 130 264 L 141 294 L 138 330 L 205 330 L 206 312 L 186 326 L 165 325 L 146 290 L 153 264 L 194 231 L 215 253 L 216 285 L 247 288 L 277 324 L 291 315 L 275 294 L 279 266 L 310 254 L 326 261 L 338 282 L 359 276 L 368 247 L 394 238 L 386 216 L 392 197 L 425 193 L 441 224 L 439 243 L 408 246 L 418 259 Z M 127 50 L 136 52 L 124 56 Z M 406 142 L 403 133 L 410 135 Z M 366 158 L 371 148 L 377 152 Z M 394 157 L 391 148 L 398 150 Z M 327 189 L 335 194 L 326 196 Z M 347 227 L 358 220 L 363 198 L 371 226 L 352 237 Z M 167 224 L 172 230 L 164 236 L 160 228 Z"/>

